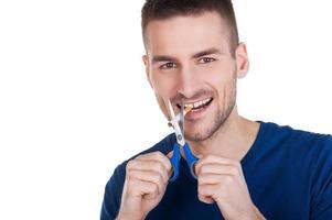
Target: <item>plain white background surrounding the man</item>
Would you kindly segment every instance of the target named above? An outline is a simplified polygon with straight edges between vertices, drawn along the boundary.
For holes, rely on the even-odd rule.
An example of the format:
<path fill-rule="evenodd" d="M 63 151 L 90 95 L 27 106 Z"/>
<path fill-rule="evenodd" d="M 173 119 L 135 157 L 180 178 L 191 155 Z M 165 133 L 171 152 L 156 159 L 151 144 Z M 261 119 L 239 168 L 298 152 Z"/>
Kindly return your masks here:
<path fill-rule="evenodd" d="M 0 1 L 0 219 L 98 219 L 117 164 L 170 130 L 146 81 L 142 0 Z M 325 0 L 234 2 L 251 120 L 332 133 Z"/>

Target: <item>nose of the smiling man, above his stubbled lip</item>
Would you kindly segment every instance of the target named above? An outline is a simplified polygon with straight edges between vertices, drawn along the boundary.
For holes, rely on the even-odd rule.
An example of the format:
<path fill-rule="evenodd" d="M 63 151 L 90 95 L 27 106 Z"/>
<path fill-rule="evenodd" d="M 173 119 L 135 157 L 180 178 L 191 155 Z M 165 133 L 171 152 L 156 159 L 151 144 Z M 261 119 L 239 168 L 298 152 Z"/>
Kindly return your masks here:
<path fill-rule="evenodd" d="M 178 92 L 184 98 L 192 98 L 199 89 L 197 75 L 190 66 L 182 66 L 179 73 Z"/>

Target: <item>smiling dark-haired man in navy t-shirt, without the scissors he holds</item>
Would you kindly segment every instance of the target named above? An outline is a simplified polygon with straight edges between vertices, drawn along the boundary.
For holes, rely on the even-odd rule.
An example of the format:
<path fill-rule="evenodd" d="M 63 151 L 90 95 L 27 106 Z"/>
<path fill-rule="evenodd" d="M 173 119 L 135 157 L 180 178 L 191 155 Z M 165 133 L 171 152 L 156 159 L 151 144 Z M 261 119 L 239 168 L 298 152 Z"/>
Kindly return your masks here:
<path fill-rule="evenodd" d="M 249 67 L 231 0 L 147 0 L 148 80 L 164 116 L 184 119 L 199 157 L 172 174 L 173 134 L 120 164 L 101 219 L 332 219 L 332 138 L 238 114 L 236 82 Z"/>

